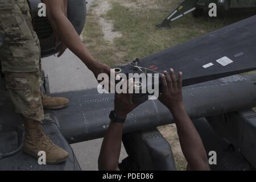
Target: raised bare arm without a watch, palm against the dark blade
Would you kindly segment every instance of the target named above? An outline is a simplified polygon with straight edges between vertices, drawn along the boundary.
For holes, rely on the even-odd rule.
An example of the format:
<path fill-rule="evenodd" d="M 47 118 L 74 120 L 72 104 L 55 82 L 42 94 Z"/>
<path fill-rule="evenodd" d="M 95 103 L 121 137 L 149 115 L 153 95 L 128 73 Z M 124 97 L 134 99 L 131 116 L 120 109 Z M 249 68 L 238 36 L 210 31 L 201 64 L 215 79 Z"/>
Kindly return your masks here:
<path fill-rule="evenodd" d="M 171 75 L 164 72 L 162 78 L 163 93 L 160 101 L 168 107 L 174 116 L 179 135 L 180 146 L 188 162 L 188 169 L 209 170 L 207 154 L 199 133 L 189 118 L 182 99 L 182 73 L 176 81 L 174 70 Z"/>

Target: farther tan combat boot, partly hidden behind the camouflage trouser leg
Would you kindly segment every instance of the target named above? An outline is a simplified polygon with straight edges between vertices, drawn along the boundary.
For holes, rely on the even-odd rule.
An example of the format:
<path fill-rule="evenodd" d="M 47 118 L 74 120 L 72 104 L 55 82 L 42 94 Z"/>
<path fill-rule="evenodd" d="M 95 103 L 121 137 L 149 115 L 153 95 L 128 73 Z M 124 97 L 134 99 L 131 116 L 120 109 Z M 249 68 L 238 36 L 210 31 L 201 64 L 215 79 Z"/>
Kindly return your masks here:
<path fill-rule="evenodd" d="M 42 105 L 44 109 L 58 110 L 68 106 L 69 100 L 63 97 L 50 97 L 41 93 Z"/>

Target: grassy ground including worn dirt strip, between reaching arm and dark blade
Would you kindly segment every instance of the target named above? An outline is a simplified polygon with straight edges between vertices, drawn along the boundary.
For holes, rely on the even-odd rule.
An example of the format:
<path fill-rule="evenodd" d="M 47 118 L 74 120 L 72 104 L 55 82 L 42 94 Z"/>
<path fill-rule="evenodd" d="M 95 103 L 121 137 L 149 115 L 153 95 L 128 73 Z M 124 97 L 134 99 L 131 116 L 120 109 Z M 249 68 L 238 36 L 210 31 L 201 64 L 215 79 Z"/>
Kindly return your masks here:
<path fill-rule="evenodd" d="M 143 0 L 131 2 L 139 5 Z M 187 42 L 197 36 L 224 27 L 250 15 L 241 14 L 234 16 L 233 13 L 220 13 L 217 18 L 209 18 L 204 15 L 193 18 L 191 14 L 176 20 L 171 28 L 156 28 L 156 24 L 177 6 L 179 0 L 165 1 L 155 0 L 157 7 L 122 5 L 127 1 L 112 1 L 112 9 L 101 18 L 112 20 L 114 31 L 122 32 L 121 38 L 115 38 L 114 44 L 104 40 L 99 18 L 93 14 L 97 8 L 97 0 L 92 4 L 87 16 L 85 26 L 85 40 L 92 55 L 97 60 L 113 66 L 124 64 L 124 59 L 133 60 L 136 57 L 144 57 L 156 53 L 168 47 Z"/>

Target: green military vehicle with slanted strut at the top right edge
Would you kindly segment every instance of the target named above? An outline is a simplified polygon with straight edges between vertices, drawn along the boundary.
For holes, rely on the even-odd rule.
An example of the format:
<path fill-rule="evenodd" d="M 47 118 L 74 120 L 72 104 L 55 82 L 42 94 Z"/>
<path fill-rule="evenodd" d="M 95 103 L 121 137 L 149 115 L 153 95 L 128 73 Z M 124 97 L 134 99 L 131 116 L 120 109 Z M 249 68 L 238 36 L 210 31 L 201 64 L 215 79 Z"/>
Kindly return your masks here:
<path fill-rule="evenodd" d="M 158 27 L 168 27 L 175 20 L 192 13 L 198 17 L 203 11 L 209 11 L 214 3 L 217 10 L 256 10 L 256 0 L 181 0 L 180 5 L 159 24 Z"/>

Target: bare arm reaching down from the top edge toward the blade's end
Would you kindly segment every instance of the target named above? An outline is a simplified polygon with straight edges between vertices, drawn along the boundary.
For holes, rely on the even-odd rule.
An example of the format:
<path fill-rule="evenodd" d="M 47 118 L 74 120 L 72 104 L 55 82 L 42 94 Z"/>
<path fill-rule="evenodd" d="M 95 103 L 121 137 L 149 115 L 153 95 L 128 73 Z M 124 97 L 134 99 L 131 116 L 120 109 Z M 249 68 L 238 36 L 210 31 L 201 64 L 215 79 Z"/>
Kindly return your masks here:
<path fill-rule="evenodd" d="M 100 73 L 109 74 L 110 68 L 105 64 L 99 63 L 90 55 L 72 23 L 65 16 L 67 0 L 43 0 L 42 2 L 46 4 L 47 18 L 59 35 L 61 42 L 82 60 L 96 78 Z"/>

